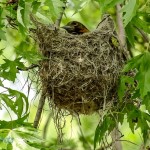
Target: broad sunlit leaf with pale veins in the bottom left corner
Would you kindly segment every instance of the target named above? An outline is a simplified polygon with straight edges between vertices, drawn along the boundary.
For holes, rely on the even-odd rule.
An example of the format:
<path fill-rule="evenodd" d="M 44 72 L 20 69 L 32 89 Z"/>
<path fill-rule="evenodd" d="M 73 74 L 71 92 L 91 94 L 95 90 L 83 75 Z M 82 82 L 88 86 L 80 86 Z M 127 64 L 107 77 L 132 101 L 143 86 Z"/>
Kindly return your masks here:
<path fill-rule="evenodd" d="M 22 118 L 22 120 L 24 120 Z M 21 119 L 20 119 L 21 120 Z M 24 122 L 21 124 L 16 123 L 15 121 L 0 121 L 0 124 L 16 124 L 14 128 L 10 129 L 1 129 L 0 130 L 0 148 L 5 148 L 7 150 L 12 149 L 29 149 L 29 150 L 50 150 L 51 148 L 48 146 L 44 146 L 44 140 L 39 136 L 39 131 L 31 126 L 23 127 Z M 5 135 L 4 135 L 5 134 Z M 2 146 L 1 146 L 2 145 Z M 9 149 L 10 148 L 10 149 Z"/>

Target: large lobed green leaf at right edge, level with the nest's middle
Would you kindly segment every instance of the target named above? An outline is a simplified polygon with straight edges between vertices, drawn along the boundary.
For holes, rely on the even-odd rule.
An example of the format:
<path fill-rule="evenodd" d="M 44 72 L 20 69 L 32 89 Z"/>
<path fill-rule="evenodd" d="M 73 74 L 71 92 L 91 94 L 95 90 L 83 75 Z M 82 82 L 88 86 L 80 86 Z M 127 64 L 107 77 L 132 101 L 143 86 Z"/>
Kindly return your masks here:
<path fill-rule="evenodd" d="M 135 80 L 138 81 L 137 89 L 140 97 L 144 98 L 150 92 L 150 52 L 145 52 L 132 58 L 124 67 L 123 72 L 137 69 Z M 125 87 L 122 86 L 122 89 Z M 119 93 L 121 96 L 123 93 Z"/>

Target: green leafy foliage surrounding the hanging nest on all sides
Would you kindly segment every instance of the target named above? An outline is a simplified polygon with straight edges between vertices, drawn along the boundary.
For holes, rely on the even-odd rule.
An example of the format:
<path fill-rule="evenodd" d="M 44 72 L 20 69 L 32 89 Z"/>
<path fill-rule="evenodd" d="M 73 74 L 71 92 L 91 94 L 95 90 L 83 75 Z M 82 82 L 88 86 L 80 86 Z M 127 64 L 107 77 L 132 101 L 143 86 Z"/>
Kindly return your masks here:
<path fill-rule="evenodd" d="M 98 115 L 81 117 L 82 129 L 75 129 L 75 140 L 70 140 L 69 136 L 64 140 L 63 145 L 57 143 L 55 137 L 52 138 L 50 124 L 47 139 L 43 140 L 36 129 L 31 128 L 31 123 L 27 122 L 29 114 L 29 99 L 23 92 L 14 90 L 4 85 L 5 81 L 15 82 L 20 74 L 18 68 L 24 69 L 25 64 L 37 64 L 42 56 L 38 53 L 38 46 L 30 36 L 30 29 L 35 26 L 30 15 L 32 14 L 38 21 L 44 24 L 54 24 L 59 18 L 63 7 L 66 7 L 61 25 L 70 20 L 78 20 L 85 24 L 91 31 L 101 21 L 104 13 L 110 13 L 117 25 L 116 5 L 120 4 L 122 21 L 127 37 L 128 50 L 140 55 L 133 57 L 124 66 L 120 85 L 118 88 L 118 102 L 115 110 L 110 110 L 104 114 L 100 121 Z M 13 149 L 19 139 L 22 141 L 20 149 L 92 149 L 98 147 L 99 142 L 104 140 L 106 133 L 109 135 L 119 122 L 121 131 L 125 138 L 130 130 L 134 133 L 142 133 L 143 140 L 133 140 L 134 143 L 149 144 L 150 125 L 150 1 L 149 0 L 1 0 L 0 2 L 0 86 L 5 92 L 0 94 L 1 103 L 4 108 L 10 109 L 17 119 L 11 121 L 0 121 L 0 147 L 3 149 Z M 25 63 L 28 62 L 28 63 Z M 128 72 L 135 71 L 134 76 L 129 76 Z M 141 103 L 145 109 L 139 109 L 133 103 L 123 102 L 126 92 L 130 92 L 131 101 Z M 9 110 L 7 110 L 9 112 Z M 11 115 L 11 114 L 10 114 Z M 85 119 L 86 118 L 86 119 Z M 93 120 L 96 121 L 93 121 Z M 69 120 L 69 119 L 68 119 Z M 117 121 L 116 121 L 117 120 Z M 126 121 L 124 121 L 126 120 Z M 33 122 L 33 118 L 31 119 Z M 45 122 L 45 121 L 44 121 Z M 69 121 L 68 121 L 69 122 Z M 77 121 L 76 121 L 77 122 Z M 128 122 L 128 129 L 126 128 Z M 74 124 L 74 128 L 80 125 Z M 44 126 L 44 123 L 42 124 Z M 25 129 L 19 127 L 26 127 Z M 71 126 L 70 124 L 68 125 Z M 138 130 L 137 130 L 138 129 Z M 68 130 L 67 130 L 68 131 Z M 66 131 L 66 132 L 67 132 Z M 2 139 L 1 139 L 2 138 Z M 77 139 L 78 138 L 78 139 Z M 7 141 L 9 139 L 10 141 Z M 11 141 L 12 140 L 12 141 Z M 77 140 L 77 141 L 76 141 Z M 110 140 L 108 140 L 110 142 Z M 80 146 L 77 146 L 80 143 Z M 131 149 L 139 149 L 141 145 L 131 144 Z M 14 146 L 13 145 L 13 146 Z M 45 146 L 46 145 L 46 146 Z M 124 144 L 124 149 L 130 146 Z M 20 145 L 15 145 L 19 147 Z"/>

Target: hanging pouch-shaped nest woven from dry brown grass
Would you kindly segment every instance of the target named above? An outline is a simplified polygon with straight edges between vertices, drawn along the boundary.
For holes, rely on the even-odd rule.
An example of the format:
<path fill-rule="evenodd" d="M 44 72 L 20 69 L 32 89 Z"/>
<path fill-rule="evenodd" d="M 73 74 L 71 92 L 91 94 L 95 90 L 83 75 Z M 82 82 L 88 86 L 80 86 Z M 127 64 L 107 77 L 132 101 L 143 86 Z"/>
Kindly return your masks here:
<path fill-rule="evenodd" d="M 36 40 L 45 57 L 40 78 L 50 103 L 71 113 L 90 114 L 117 100 L 124 56 L 111 17 L 105 16 L 96 30 L 83 35 L 37 24 Z"/>

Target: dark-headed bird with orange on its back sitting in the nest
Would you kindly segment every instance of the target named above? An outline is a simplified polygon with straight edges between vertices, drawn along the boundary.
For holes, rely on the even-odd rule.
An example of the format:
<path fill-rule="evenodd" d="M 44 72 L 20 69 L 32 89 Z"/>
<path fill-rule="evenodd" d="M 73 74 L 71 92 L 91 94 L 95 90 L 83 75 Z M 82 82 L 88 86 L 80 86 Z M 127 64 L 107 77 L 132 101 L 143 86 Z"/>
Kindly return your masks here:
<path fill-rule="evenodd" d="M 90 32 L 82 23 L 78 21 L 68 22 L 65 26 L 61 28 L 65 29 L 68 33 L 74 35 L 81 35 Z"/>

